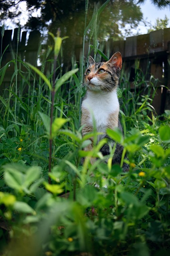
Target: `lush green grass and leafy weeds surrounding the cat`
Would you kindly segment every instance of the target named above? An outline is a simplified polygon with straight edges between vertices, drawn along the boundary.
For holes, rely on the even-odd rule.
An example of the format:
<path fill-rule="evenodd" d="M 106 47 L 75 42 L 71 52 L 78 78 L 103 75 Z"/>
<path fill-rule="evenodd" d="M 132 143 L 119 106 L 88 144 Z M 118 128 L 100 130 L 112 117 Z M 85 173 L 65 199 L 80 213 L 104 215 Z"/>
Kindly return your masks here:
<path fill-rule="evenodd" d="M 50 68 L 46 60 L 47 52 L 41 70 L 19 59 L 0 68 L 0 82 L 9 65 L 18 70 L 0 96 L 0 254 L 169 255 L 170 112 L 161 121 L 152 108 L 149 90 L 156 90 L 156 79 L 147 81 L 136 68 L 130 90 L 122 72 L 124 136 L 119 130 L 107 134 L 128 152 L 124 173 L 111 165 L 114 148 L 104 164 L 105 140 L 83 151 L 97 136 L 81 135 L 83 70 L 73 64 L 72 71 L 57 75 L 56 59 Z"/>

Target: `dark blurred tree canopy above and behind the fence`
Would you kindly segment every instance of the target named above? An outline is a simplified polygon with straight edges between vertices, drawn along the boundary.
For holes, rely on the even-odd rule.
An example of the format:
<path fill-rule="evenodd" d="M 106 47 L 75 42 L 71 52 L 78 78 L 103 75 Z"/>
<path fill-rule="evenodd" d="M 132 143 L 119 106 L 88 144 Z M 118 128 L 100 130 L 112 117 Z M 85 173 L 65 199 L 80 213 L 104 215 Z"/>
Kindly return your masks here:
<path fill-rule="evenodd" d="M 0 20 L 5 21 L 10 18 L 14 22 L 16 17 L 20 17 L 21 11 L 18 8 L 25 3 L 29 15 L 28 22 L 25 27 L 32 30 L 42 30 L 46 28 L 53 34 L 56 34 L 57 28 L 61 29 L 61 36 L 69 36 L 65 43 L 65 58 L 70 60 L 72 51 L 75 48 L 77 38 L 83 36 L 85 5 L 88 4 L 87 23 L 92 18 L 94 5 L 99 2 L 102 5 L 106 0 L 0 0 Z M 138 26 L 142 20 L 139 3 L 145 0 L 110 0 L 104 12 L 99 17 L 99 35 L 98 38 L 120 38 L 122 31 L 129 25 L 129 30 L 125 31 L 127 36 L 131 32 L 131 28 Z M 153 0 L 154 4 L 159 7 L 167 6 L 169 1 Z M 32 16 L 33 12 L 38 10 L 40 16 Z M 87 9 L 86 9 L 87 10 Z"/>

